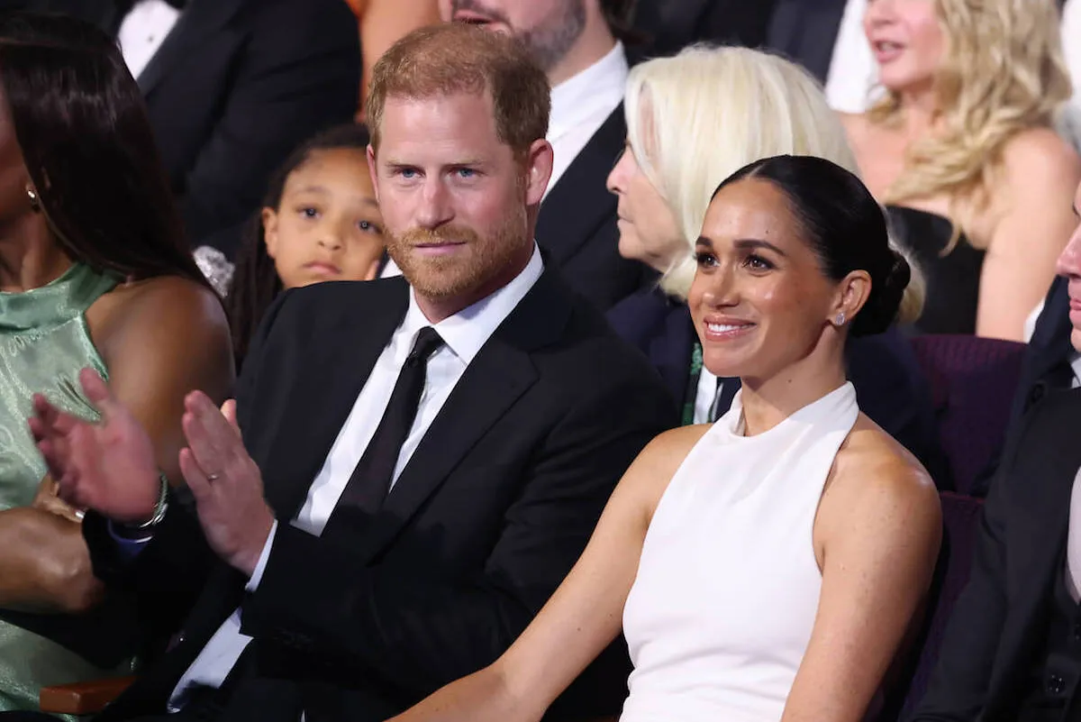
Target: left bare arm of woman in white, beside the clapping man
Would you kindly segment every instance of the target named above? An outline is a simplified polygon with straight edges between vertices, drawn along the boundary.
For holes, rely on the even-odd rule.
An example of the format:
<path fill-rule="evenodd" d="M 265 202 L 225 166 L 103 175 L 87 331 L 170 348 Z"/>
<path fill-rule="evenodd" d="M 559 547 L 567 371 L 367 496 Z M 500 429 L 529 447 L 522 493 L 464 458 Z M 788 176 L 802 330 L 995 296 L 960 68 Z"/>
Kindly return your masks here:
<path fill-rule="evenodd" d="M 615 639 L 653 509 L 700 428 L 657 437 L 630 466 L 582 558 L 506 654 L 395 718 L 395 722 L 539 720 Z"/>

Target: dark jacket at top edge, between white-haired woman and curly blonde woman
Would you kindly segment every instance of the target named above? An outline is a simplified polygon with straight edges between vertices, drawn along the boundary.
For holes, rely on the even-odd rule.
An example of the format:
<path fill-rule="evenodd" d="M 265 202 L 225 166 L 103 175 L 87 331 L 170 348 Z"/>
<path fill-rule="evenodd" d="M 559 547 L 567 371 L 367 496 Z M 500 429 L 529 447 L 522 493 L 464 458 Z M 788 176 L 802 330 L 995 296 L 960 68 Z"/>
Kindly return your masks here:
<path fill-rule="evenodd" d="M 765 44 L 826 82 L 845 0 L 776 0 Z"/>

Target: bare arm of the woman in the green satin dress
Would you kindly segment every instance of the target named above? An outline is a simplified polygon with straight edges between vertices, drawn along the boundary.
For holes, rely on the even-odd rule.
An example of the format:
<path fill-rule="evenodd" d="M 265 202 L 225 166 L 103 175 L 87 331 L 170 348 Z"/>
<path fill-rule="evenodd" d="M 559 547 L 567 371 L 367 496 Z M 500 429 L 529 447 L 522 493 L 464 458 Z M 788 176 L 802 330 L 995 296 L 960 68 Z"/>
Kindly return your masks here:
<path fill-rule="evenodd" d="M 118 398 L 154 440 L 159 468 L 176 482 L 184 395 L 200 388 L 222 399 L 231 386 L 225 315 L 209 291 L 178 279 L 115 294 L 88 312 L 91 333 Z M 50 479 L 42 486 L 32 508 L 0 512 L 0 606 L 82 612 L 101 600 L 102 586 L 79 521 L 51 498 Z"/>

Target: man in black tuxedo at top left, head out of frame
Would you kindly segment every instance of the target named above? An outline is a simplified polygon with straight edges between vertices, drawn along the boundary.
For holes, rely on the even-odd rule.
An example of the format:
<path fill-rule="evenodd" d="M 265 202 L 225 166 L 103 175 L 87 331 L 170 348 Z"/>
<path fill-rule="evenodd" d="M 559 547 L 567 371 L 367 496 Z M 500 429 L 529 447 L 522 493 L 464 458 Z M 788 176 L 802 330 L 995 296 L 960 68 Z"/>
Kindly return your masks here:
<path fill-rule="evenodd" d="M 267 178 L 316 132 L 349 122 L 360 88 L 343 0 L 0 0 L 63 12 L 120 43 L 146 97 L 192 246 L 232 255 Z"/>

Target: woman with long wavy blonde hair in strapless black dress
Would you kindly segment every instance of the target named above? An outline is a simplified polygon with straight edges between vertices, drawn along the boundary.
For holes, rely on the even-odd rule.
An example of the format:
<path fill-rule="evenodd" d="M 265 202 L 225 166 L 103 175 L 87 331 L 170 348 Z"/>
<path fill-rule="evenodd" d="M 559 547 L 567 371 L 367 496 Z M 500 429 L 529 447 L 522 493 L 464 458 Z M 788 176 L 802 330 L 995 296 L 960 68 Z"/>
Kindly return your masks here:
<path fill-rule="evenodd" d="M 1024 339 L 1077 220 L 1054 0 L 871 0 L 882 98 L 844 123 L 927 278 L 918 327 Z"/>

